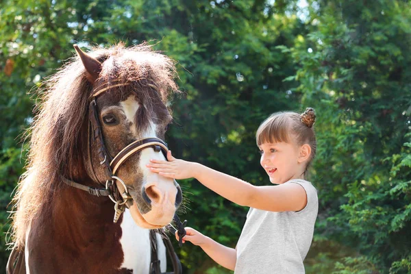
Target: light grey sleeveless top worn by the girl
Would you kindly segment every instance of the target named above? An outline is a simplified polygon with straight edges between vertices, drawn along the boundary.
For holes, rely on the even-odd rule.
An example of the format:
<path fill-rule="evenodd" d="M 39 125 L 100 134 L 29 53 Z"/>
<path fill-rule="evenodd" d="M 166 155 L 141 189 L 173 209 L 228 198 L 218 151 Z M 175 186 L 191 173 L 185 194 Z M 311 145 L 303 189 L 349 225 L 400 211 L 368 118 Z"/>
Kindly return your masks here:
<path fill-rule="evenodd" d="M 299 212 L 250 208 L 237 243 L 235 274 L 305 273 L 303 260 L 310 249 L 319 209 L 317 192 L 303 179 L 284 184 L 300 184 L 306 190 L 306 207 Z"/>

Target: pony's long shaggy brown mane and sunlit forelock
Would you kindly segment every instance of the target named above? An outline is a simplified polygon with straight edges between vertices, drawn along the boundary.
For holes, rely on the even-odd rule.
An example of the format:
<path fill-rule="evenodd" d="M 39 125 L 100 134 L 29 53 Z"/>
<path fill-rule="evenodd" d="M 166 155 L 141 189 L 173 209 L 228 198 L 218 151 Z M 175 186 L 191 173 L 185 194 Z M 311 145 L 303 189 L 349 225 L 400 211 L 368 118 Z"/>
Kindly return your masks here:
<path fill-rule="evenodd" d="M 110 86 L 115 81 L 147 90 L 147 84 L 151 84 L 164 103 L 171 93 L 178 92 L 173 80 L 175 63 L 147 44 L 128 48 L 123 44 L 108 49 L 96 47 L 88 54 L 103 64 L 98 79 L 103 85 Z M 10 245 L 17 248 L 24 247 L 29 223 L 49 210 L 62 186 L 60 175 L 75 178 L 84 170 L 81 142 L 86 132 L 81 129 L 87 125 L 88 97 L 92 93 L 84 65 L 78 57 L 72 58 L 43 86 L 45 88 L 39 90 L 40 103 L 36 105 L 38 115 L 26 134 L 31 137 L 27 171 L 12 200 Z"/>

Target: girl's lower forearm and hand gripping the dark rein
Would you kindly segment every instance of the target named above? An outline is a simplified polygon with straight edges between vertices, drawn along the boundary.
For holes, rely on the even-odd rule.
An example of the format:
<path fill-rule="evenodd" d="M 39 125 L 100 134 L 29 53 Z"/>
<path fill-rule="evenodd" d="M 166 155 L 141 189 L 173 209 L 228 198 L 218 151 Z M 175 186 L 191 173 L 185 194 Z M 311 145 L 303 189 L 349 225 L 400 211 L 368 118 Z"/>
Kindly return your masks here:
<path fill-rule="evenodd" d="M 234 271 L 237 262 L 236 249 L 225 247 L 191 227 L 186 227 L 186 232 L 187 235 L 183 237 L 183 242 L 188 240 L 189 242 L 192 242 L 193 245 L 199 245 L 199 247 L 201 247 L 201 249 L 203 249 L 203 251 L 206 252 L 217 264 Z M 177 240 L 179 239 L 177 232 L 175 233 L 175 238 L 177 238 Z"/>

